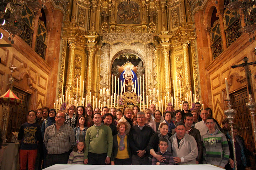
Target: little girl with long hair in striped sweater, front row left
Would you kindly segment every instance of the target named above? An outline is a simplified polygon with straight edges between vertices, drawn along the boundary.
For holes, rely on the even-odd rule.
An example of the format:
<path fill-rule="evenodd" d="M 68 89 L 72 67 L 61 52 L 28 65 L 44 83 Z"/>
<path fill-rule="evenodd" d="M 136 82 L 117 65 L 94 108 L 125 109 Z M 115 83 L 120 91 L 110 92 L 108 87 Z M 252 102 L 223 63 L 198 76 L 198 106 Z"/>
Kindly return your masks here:
<path fill-rule="evenodd" d="M 68 164 L 80 164 L 84 165 L 84 141 L 76 141 L 73 151 L 69 155 Z"/>

